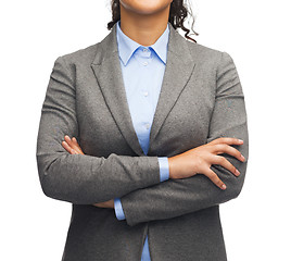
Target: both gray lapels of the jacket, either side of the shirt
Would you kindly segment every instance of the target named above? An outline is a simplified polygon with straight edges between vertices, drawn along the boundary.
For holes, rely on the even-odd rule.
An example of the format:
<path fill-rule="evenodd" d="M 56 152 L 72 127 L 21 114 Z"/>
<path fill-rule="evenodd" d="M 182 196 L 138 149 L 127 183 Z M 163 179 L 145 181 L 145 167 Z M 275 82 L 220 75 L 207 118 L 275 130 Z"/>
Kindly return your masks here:
<path fill-rule="evenodd" d="M 161 94 L 150 133 L 150 154 L 160 128 L 185 88 L 194 69 L 194 61 L 188 50 L 187 40 L 169 24 L 169 39 L 165 73 Z M 119 64 L 116 24 L 111 33 L 97 45 L 97 54 L 91 67 L 97 77 L 104 100 L 128 145 L 138 156 L 144 156 L 131 121 Z"/>

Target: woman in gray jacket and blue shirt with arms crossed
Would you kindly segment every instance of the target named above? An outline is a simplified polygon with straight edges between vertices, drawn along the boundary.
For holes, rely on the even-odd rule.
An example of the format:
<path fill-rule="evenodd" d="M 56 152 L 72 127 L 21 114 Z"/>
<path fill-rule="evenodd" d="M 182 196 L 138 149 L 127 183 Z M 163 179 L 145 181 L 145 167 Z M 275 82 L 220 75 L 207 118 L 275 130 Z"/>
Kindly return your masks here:
<path fill-rule="evenodd" d="M 227 260 L 219 203 L 249 156 L 233 60 L 176 32 L 180 0 L 112 14 L 101 42 L 55 60 L 42 104 L 41 187 L 73 207 L 62 260 Z"/>

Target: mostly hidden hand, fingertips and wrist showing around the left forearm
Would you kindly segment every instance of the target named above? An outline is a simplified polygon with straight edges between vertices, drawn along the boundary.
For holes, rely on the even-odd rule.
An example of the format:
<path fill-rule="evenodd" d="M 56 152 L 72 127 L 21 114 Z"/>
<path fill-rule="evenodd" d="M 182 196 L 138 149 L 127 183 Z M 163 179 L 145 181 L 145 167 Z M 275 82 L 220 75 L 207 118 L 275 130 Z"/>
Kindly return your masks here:
<path fill-rule="evenodd" d="M 62 141 L 63 148 L 71 154 L 84 154 L 80 146 L 78 145 L 78 141 L 75 137 L 72 139 L 65 135 L 64 141 Z M 114 200 L 111 199 L 105 202 L 100 202 L 100 203 L 94 203 L 93 206 L 99 207 L 99 208 L 111 208 L 114 209 Z"/>

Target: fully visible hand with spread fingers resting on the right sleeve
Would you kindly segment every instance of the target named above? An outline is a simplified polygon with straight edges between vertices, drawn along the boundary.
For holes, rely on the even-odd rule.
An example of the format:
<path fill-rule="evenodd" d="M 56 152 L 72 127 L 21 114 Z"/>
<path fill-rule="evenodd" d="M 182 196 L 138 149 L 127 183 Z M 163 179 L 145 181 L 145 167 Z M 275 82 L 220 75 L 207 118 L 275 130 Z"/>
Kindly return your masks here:
<path fill-rule="evenodd" d="M 243 140 L 240 141 L 237 138 L 222 137 L 184 153 L 170 157 L 168 158 L 169 178 L 186 178 L 195 174 L 204 174 L 217 187 L 226 189 L 226 185 L 211 170 L 211 165 L 219 164 L 232 172 L 236 176 L 239 176 L 240 173 L 237 172 L 238 170 L 226 158 L 218 154 L 228 153 L 243 162 L 244 158 L 241 152 L 230 146 L 242 144 Z"/>

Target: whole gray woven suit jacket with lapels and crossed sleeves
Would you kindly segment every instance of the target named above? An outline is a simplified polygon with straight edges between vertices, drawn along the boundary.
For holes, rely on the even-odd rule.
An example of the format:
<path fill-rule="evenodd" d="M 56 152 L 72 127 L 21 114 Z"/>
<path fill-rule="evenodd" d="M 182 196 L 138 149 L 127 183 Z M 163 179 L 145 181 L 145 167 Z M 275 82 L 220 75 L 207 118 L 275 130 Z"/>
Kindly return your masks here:
<path fill-rule="evenodd" d="M 37 137 L 45 195 L 72 203 L 63 261 L 140 261 L 146 235 L 152 261 L 227 260 L 219 204 L 244 182 L 249 139 L 244 96 L 227 52 L 186 40 L 169 24 L 167 64 L 146 156 L 123 84 L 116 24 L 100 42 L 59 57 L 50 75 Z M 61 145 L 75 136 L 85 153 Z M 223 154 L 240 172 L 211 169 L 160 183 L 157 157 L 173 157 L 218 137 L 244 140 L 246 161 Z M 126 220 L 92 203 L 121 197 Z"/>

